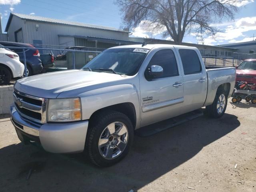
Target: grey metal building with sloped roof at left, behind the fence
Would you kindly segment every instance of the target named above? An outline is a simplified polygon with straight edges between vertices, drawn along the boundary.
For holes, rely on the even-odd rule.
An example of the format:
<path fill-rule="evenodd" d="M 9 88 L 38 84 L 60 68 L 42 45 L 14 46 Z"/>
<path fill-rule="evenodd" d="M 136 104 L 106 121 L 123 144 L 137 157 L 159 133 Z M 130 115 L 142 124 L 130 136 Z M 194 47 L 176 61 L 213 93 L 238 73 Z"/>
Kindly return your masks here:
<path fill-rule="evenodd" d="M 11 42 L 109 48 L 131 44 L 129 32 L 114 27 L 11 13 L 5 32 Z"/>

